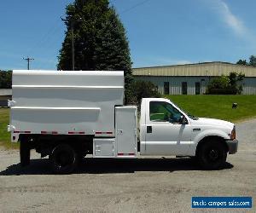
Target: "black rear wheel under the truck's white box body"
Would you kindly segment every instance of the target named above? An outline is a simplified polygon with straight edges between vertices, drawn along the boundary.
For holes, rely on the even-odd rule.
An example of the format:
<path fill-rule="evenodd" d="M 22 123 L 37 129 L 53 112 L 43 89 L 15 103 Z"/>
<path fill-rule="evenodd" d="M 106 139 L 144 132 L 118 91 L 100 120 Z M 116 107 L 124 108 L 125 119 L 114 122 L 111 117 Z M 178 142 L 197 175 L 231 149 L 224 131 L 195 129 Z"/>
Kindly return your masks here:
<path fill-rule="evenodd" d="M 70 174 L 79 163 L 79 155 L 67 144 L 56 146 L 49 155 L 51 168 L 55 174 Z"/>

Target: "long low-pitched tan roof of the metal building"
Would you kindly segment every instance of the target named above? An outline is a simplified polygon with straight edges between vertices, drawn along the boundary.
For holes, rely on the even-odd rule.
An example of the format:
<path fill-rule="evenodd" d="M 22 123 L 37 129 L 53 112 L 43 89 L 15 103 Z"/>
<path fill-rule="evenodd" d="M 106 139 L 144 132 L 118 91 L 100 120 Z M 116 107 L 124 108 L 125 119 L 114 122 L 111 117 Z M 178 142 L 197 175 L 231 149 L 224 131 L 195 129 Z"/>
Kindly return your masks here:
<path fill-rule="evenodd" d="M 227 76 L 230 72 L 241 72 L 244 73 L 246 77 L 256 77 L 256 67 L 236 65 L 221 61 L 132 69 L 132 73 L 135 76 Z"/>

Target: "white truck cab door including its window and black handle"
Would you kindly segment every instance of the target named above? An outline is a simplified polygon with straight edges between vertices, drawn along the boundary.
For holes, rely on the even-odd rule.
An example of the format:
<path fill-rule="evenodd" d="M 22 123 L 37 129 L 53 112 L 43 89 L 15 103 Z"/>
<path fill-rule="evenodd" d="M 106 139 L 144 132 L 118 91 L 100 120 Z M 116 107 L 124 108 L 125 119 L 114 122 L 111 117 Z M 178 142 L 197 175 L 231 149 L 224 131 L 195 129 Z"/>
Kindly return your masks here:
<path fill-rule="evenodd" d="M 189 151 L 191 126 L 182 124 L 182 112 L 165 101 L 149 101 L 146 118 L 147 155 L 186 155 Z"/>

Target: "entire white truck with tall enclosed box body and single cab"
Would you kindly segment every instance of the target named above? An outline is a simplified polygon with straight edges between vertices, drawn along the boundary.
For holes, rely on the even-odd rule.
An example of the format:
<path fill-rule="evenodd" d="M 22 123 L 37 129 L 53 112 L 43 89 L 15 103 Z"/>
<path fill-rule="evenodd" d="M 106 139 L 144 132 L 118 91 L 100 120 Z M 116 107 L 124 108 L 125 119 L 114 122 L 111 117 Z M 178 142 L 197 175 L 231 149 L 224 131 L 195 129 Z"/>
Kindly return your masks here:
<path fill-rule="evenodd" d="M 72 172 L 87 154 L 189 156 L 216 170 L 237 152 L 234 124 L 195 118 L 164 98 L 143 98 L 137 140 L 137 107 L 123 104 L 124 72 L 14 71 L 12 88 L 8 130 L 20 141 L 21 166 L 35 149 L 57 174 Z"/>

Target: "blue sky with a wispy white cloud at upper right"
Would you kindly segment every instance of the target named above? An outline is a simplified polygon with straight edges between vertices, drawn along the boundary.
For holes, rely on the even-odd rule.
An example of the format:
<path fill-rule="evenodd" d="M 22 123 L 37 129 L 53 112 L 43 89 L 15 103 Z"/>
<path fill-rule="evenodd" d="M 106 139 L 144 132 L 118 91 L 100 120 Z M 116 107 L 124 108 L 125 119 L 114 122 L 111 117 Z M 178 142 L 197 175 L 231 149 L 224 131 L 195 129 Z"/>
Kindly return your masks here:
<path fill-rule="evenodd" d="M 2 0 L 0 70 L 55 70 L 73 0 Z M 110 0 L 125 26 L 133 67 L 256 55 L 255 0 Z"/>

